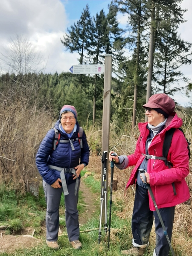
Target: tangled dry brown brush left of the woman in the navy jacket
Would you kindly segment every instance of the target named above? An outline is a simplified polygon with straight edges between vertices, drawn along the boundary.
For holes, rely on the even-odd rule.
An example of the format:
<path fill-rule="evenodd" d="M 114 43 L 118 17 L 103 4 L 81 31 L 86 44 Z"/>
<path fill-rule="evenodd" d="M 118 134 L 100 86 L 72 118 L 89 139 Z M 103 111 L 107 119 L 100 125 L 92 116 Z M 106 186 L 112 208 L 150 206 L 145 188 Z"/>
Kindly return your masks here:
<path fill-rule="evenodd" d="M 38 186 L 35 155 L 51 128 L 51 116 L 49 112 L 20 104 L 5 106 L 0 115 L 0 180 L 23 193 L 29 190 L 35 177 Z"/>

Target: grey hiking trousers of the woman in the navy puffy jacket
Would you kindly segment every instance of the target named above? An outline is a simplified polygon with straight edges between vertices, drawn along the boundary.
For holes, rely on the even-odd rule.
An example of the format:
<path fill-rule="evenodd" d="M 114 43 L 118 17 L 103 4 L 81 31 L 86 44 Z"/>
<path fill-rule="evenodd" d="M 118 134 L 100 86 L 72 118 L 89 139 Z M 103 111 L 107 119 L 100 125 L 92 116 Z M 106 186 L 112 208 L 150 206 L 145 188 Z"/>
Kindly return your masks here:
<path fill-rule="evenodd" d="M 80 185 L 80 180 L 79 180 Z M 59 230 L 59 205 L 63 188 L 54 189 L 43 180 L 45 198 L 47 202 L 46 227 L 47 241 L 57 241 Z M 79 197 L 79 186 L 75 195 L 76 183 L 67 185 L 69 195 L 65 195 L 65 221 L 69 241 L 79 240 L 79 212 L 77 203 Z"/>

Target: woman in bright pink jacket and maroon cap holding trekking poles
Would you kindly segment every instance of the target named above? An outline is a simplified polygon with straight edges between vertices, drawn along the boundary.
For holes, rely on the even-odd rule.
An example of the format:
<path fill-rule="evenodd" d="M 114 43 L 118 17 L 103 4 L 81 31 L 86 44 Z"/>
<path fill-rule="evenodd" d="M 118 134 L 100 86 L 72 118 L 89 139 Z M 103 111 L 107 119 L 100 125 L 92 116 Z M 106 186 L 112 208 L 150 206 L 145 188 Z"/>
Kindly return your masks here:
<path fill-rule="evenodd" d="M 126 186 L 128 188 L 136 183 L 132 215 L 133 247 L 123 250 L 122 254 L 144 255 L 154 218 L 156 247 L 153 256 L 168 256 L 169 244 L 151 196 L 148 194 L 147 186 L 138 170 L 146 170 L 146 181 L 151 186 L 171 241 L 175 205 L 183 203 L 190 197 L 185 181 L 185 177 L 189 174 L 187 142 L 183 132 L 175 129 L 167 156 L 172 168 L 170 169 L 164 160 L 155 159 L 154 156 L 163 157 L 163 141 L 166 131 L 171 128 L 180 128 L 183 122 L 174 112 L 175 102 L 165 93 L 151 96 L 143 108 L 145 108 L 148 122 L 139 123 L 140 137 L 137 140 L 134 154 L 114 157 L 111 156 L 113 153 L 111 151 L 109 155 L 109 160 L 114 159 L 119 169 L 135 166 Z"/>

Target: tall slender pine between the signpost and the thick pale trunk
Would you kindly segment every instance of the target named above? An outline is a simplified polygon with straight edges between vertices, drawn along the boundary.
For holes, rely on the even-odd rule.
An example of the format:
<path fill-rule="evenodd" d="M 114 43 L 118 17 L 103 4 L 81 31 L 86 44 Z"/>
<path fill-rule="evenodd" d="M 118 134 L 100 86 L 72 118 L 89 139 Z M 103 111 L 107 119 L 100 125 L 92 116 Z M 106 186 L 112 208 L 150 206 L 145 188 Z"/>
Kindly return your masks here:
<path fill-rule="evenodd" d="M 128 14 L 128 24 L 126 38 L 128 50 L 132 52 L 132 60 L 128 61 L 128 65 L 122 65 L 122 67 L 130 68 L 130 64 L 133 65 L 131 73 L 129 70 L 129 76 L 132 76 L 134 84 L 134 102 L 133 102 L 133 116 L 132 116 L 132 128 L 136 124 L 136 111 L 137 111 L 137 94 L 143 91 L 143 81 L 145 74 L 142 71 L 142 66 L 145 65 L 145 55 L 143 55 L 142 37 L 143 27 L 145 25 L 145 8 L 140 0 L 116 0 L 119 11 L 123 14 Z M 142 56 L 141 56 L 142 55 Z M 126 73 L 128 73 L 126 71 Z M 141 77 L 142 74 L 142 77 Z M 133 95 L 133 94 L 132 94 Z M 130 95 L 131 96 L 131 95 Z M 130 106 L 131 108 L 131 106 Z"/>

